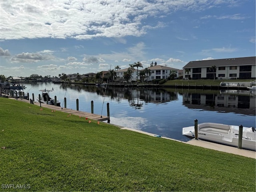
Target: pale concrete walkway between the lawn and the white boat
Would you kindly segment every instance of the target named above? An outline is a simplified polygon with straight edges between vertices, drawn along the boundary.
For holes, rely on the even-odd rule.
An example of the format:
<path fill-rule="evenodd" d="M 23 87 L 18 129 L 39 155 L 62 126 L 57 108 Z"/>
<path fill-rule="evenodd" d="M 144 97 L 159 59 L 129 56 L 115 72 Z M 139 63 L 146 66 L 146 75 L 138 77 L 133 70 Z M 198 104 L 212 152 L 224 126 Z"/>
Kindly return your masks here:
<path fill-rule="evenodd" d="M 152 134 L 152 133 L 148 133 L 148 132 L 144 132 L 144 131 L 140 131 L 140 130 L 135 130 L 135 129 L 127 128 L 127 127 L 123 127 L 121 129 L 135 131 L 135 132 L 147 134 L 150 136 L 157 136 L 156 134 Z M 222 144 L 216 144 L 216 143 L 207 142 L 207 141 L 203 141 L 203 140 L 192 139 L 188 142 L 184 142 L 184 141 L 175 140 L 175 139 L 171 139 L 171 138 L 167 138 L 167 137 L 161 137 L 161 138 L 256 159 L 256 152 L 246 150 L 246 149 L 238 149 L 236 147 L 226 146 L 226 145 L 222 145 Z"/>

